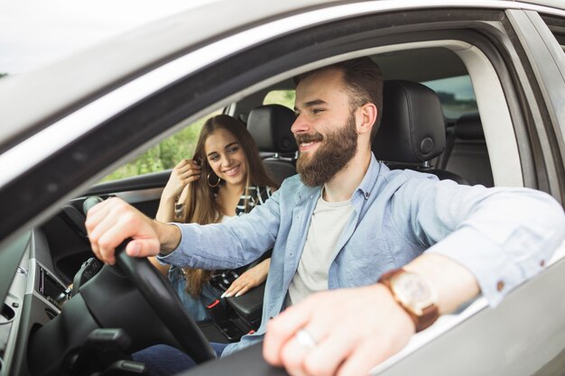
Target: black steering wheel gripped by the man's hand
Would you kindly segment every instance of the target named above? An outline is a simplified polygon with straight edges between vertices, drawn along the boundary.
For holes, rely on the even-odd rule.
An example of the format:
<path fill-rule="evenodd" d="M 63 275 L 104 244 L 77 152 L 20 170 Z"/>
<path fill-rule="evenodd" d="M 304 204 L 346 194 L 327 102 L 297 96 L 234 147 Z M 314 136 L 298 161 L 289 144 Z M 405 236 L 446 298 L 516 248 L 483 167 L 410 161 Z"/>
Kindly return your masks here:
<path fill-rule="evenodd" d="M 102 201 L 100 197 L 88 197 L 83 204 L 85 216 L 88 210 L 100 201 Z M 171 342 L 172 336 L 181 350 L 189 354 L 194 362 L 216 359 L 216 352 L 199 326 L 182 307 L 181 299 L 161 272 L 146 258 L 130 257 L 125 253 L 125 246 L 129 241 L 130 239 L 125 240 L 116 248 L 116 265 L 105 265 L 89 280 L 90 283 L 79 289 L 91 313 L 97 317 L 98 322 L 107 326 L 129 328 L 132 332 L 130 335 L 136 334 L 141 337 L 140 344 L 150 344 L 155 340 L 163 341 L 163 339 Z M 91 281 L 94 280 L 97 282 L 92 283 Z M 140 302 L 138 294 L 132 293 L 132 285 L 141 293 L 147 305 Z M 121 304 L 126 306 L 121 315 L 116 315 L 113 310 L 107 309 L 107 295 L 115 297 L 116 301 L 120 300 Z M 144 312 L 146 317 L 156 315 L 155 318 L 161 321 L 166 330 L 161 330 L 162 326 L 159 326 L 147 331 L 148 324 L 152 323 L 140 323 L 140 312 Z M 147 337 L 152 335 L 153 337 L 148 340 Z"/>

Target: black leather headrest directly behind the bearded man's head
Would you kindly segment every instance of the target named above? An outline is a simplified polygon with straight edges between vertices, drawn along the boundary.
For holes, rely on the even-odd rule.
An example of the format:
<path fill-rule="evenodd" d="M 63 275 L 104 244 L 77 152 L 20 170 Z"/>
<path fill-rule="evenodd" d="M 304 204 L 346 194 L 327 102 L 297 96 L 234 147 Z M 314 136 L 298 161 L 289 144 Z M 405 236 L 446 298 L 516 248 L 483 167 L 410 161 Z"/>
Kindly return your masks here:
<path fill-rule="evenodd" d="M 372 149 L 377 160 L 419 163 L 445 149 L 440 98 L 416 82 L 384 81 L 383 118 Z"/>

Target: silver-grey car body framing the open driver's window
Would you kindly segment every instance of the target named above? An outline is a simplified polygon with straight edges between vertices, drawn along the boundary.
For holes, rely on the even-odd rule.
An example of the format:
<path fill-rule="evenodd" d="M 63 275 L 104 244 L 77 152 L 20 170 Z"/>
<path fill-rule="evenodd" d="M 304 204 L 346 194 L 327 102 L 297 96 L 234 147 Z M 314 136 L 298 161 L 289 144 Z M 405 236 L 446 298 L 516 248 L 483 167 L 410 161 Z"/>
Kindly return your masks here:
<path fill-rule="evenodd" d="M 42 374 L 30 338 L 60 309 L 38 292 L 39 270 L 64 285 L 88 257 L 65 207 L 112 194 L 154 214 L 167 171 L 93 184 L 213 110 L 245 120 L 267 92 L 292 89 L 293 76 L 333 61 L 371 56 L 385 79 L 468 75 L 494 185 L 540 189 L 565 203 L 561 2 L 279 3 L 212 2 L 0 79 L 0 375 Z M 442 317 L 375 373 L 559 373 L 563 252 L 500 306 L 478 298 Z M 257 346 L 187 374 L 220 371 L 283 374 Z"/>

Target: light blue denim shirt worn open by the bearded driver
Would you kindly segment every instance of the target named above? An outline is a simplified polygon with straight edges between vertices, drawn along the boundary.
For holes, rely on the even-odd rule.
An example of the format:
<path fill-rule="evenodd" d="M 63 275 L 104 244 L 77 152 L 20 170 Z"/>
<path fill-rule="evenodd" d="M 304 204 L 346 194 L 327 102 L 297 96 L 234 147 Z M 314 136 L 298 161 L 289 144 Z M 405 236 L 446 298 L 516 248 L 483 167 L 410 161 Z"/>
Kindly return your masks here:
<path fill-rule="evenodd" d="M 246 216 L 226 224 L 179 225 L 179 247 L 159 257 L 177 266 L 227 269 L 273 248 L 262 325 L 254 335 L 229 344 L 223 355 L 262 340 L 269 317 L 284 308 L 320 192 L 320 187 L 302 184 L 300 176 L 286 179 Z M 384 271 L 424 251 L 438 252 L 466 266 L 496 305 L 540 271 L 565 237 L 563 209 L 547 194 L 459 186 L 412 170 L 389 170 L 374 156 L 351 203 L 354 216 L 338 240 L 328 289 L 375 283 Z M 500 290 L 499 281 L 504 282 Z"/>

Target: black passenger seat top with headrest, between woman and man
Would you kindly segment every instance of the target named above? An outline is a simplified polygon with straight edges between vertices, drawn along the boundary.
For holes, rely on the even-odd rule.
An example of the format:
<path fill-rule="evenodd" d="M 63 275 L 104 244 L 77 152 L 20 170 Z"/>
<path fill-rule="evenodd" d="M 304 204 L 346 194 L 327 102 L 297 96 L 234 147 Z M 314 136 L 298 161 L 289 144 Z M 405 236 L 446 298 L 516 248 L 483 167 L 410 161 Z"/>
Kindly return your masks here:
<path fill-rule="evenodd" d="M 294 112 L 283 105 L 261 105 L 247 117 L 247 130 L 259 151 L 273 153 L 263 160 L 265 170 L 279 185 L 296 174 L 294 156 L 298 146 L 291 132 Z"/>

